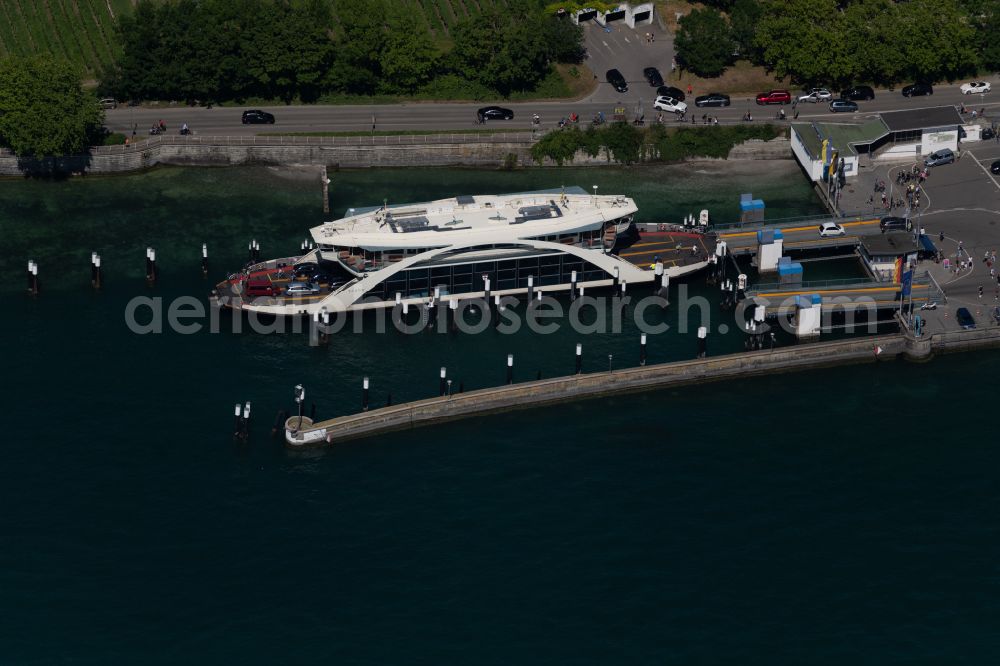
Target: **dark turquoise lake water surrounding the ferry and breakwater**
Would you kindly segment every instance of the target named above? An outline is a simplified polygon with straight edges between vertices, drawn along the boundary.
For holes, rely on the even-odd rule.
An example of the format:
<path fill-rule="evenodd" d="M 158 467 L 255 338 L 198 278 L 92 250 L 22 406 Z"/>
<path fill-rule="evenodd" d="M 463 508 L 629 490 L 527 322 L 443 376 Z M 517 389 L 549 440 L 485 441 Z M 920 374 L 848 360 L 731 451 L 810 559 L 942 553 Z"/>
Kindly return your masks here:
<path fill-rule="evenodd" d="M 794 167 L 332 178 L 334 214 L 572 184 L 634 196 L 647 220 L 735 217 L 751 190 L 771 217 L 822 212 Z M 638 361 L 629 322 L 583 337 L 342 333 L 328 348 L 303 334 L 127 329 L 130 299 L 203 299 L 248 240 L 287 254 L 323 217 L 315 177 L 264 168 L 0 182 L 0 663 L 995 660 L 1000 456 L 985 417 L 1000 354 L 287 452 L 269 435 L 296 383 L 325 418 L 358 409 L 365 375 L 381 404 L 436 393 L 440 366 L 468 389 L 498 384 L 508 353 L 519 380 L 570 372 L 576 342 L 586 371 L 606 369 L 608 354 L 616 367 Z M 37 299 L 24 294 L 29 258 Z M 699 278 L 689 287 L 714 294 Z M 673 308 L 658 316 L 677 323 Z M 710 353 L 741 346 L 709 338 Z M 694 350 L 691 332 L 671 331 L 651 339 L 649 360 Z M 233 404 L 245 400 L 251 438 L 235 444 Z"/>

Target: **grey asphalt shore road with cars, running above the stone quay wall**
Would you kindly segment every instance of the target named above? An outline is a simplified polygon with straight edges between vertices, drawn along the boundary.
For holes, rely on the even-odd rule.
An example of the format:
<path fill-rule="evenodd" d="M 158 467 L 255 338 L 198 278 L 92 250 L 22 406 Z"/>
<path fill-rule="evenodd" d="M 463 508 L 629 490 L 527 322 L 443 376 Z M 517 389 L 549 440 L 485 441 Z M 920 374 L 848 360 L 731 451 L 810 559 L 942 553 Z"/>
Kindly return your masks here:
<path fill-rule="evenodd" d="M 919 109 L 928 106 L 965 104 L 969 109 L 986 108 L 987 117 L 996 120 L 1000 116 L 1000 77 L 991 77 L 994 92 L 986 95 L 963 95 L 958 85 L 935 88 L 935 94 L 928 97 L 905 98 L 899 89 L 895 92 L 878 90 L 875 100 L 860 102 L 861 112 L 857 114 L 830 113 L 825 103 L 801 103 L 797 106 L 799 120 L 823 119 L 849 122 L 852 119 L 861 120 L 877 111 L 897 111 Z M 607 85 L 602 83 L 601 85 Z M 778 112 L 777 106 L 757 106 L 752 98 L 734 98 L 728 108 L 699 109 L 694 106 L 693 97 L 710 92 L 695 90 L 691 97 L 688 116 L 692 114 L 700 122 L 702 114 L 716 116 L 720 122 L 739 122 L 743 114 L 750 111 L 754 121 L 773 120 Z M 794 91 L 793 91 L 794 92 Z M 650 122 L 657 112 L 653 109 L 653 90 L 643 82 L 633 82 L 629 92 L 620 96 L 626 116 L 631 120 L 635 114 L 636 105 L 642 102 L 642 111 L 646 121 Z M 996 100 L 996 101 L 994 101 Z M 149 127 L 159 120 L 167 124 L 168 132 L 176 132 L 181 124 L 187 123 L 197 134 L 238 135 L 258 134 L 261 132 L 332 132 L 332 131 L 371 131 L 374 119 L 378 131 L 404 130 L 461 130 L 472 129 L 475 125 L 476 109 L 488 104 L 498 104 L 514 111 L 513 120 L 494 120 L 486 123 L 491 130 L 531 128 L 532 114 L 541 117 L 543 127 L 556 125 L 560 118 L 572 113 L 580 115 L 581 124 L 590 121 L 600 111 L 608 120 L 611 119 L 614 104 L 607 102 L 463 102 L 438 103 L 421 102 L 405 104 L 362 104 L 345 106 L 229 106 L 229 107 L 188 107 L 188 106 L 142 106 L 127 107 L 119 105 L 117 109 L 109 109 L 105 126 L 112 132 L 130 133 L 133 125 L 136 132 L 144 134 Z M 263 108 L 270 111 L 276 118 L 274 125 L 243 125 L 240 114 L 243 109 Z M 792 119 L 790 106 L 783 107 Z M 675 123 L 672 114 L 664 114 L 668 124 Z M 966 116 L 968 118 L 968 116 Z"/>

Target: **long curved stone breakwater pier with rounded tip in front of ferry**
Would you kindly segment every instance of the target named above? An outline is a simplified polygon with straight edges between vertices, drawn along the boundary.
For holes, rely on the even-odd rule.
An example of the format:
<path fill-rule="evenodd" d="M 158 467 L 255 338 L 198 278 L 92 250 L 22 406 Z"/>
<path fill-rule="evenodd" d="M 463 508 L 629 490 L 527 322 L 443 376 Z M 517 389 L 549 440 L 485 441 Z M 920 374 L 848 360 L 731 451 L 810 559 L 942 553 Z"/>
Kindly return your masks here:
<path fill-rule="evenodd" d="M 956 331 L 924 338 L 900 333 L 578 374 L 390 405 L 315 423 L 309 417 L 292 416 L 285 421 L 285 442 L 293 449 L 323 446 L 392 430 L 569 400 L 823 366 L 896 358 L 920 361 L 935 353 L 998 345 L 1000 328 Z"/>

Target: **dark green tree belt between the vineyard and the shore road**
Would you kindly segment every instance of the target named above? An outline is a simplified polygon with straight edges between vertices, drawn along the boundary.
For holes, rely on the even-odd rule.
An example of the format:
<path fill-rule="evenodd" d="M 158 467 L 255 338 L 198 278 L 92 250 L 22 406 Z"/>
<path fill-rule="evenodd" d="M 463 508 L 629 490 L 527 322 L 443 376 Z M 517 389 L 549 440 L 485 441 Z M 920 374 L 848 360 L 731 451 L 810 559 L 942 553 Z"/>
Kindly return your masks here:
<path fill-rule="evenodd" d="M 186 101 L 508 96 L 533 90 L 553 63 L 582 59 L 581 29 L 537 0 L 483 6 L 442 42 L 392 0 L 139 0 L 117 20 L 122 55 L 100 88 Z"/>

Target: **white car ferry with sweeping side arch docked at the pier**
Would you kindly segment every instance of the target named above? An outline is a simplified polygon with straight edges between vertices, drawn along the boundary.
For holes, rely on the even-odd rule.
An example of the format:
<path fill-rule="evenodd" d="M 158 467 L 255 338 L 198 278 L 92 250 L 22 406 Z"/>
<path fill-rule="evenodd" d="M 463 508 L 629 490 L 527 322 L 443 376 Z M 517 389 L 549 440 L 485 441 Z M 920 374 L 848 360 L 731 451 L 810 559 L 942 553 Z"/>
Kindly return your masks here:
<path fill-rule="evenodd" d="M 647 224 L 640 238 L 636 212 L 629 197 L 578 187 L 349 209 L 311 230 L 315 249 L 248 265 L 215 295 L 235 309 L 312 314 L 634 285 L 708 263 L 709 237 Z"/>

